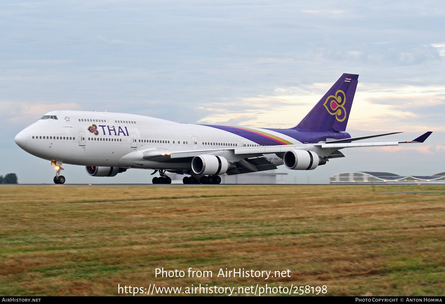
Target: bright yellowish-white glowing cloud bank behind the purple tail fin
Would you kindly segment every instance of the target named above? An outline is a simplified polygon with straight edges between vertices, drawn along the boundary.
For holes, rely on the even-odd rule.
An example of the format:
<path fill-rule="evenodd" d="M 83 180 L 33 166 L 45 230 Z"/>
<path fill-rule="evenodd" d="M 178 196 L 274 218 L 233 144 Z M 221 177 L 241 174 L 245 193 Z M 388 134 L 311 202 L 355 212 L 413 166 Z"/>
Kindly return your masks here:
<path fill-rule="evenodd" d="M 211 113 L 199 120 L 206 124 L 229 124 L 265 128 L 289 128 L 298 124 L 332 84 L 301 88 L 276 88 L 274 95 L 222 100 L 200 107 Z M 433 93 L 433 94 L 432 94 Z M 439 86 L 359 85 L 348 128 L 386 130 L 443 130 L 445 88 Z"/>

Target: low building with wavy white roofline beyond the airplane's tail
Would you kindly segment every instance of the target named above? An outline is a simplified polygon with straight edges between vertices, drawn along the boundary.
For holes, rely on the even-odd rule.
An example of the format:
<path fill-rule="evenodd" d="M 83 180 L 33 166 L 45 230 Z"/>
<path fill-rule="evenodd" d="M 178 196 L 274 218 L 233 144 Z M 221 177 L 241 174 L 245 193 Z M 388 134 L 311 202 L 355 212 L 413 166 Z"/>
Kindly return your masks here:
<path fill-rule="evenodd" d="M 401 176 L 389 172 L 345 172 L 330 177 L 331 184 L 445 184 L 445 172 L 430 176 Z"/>

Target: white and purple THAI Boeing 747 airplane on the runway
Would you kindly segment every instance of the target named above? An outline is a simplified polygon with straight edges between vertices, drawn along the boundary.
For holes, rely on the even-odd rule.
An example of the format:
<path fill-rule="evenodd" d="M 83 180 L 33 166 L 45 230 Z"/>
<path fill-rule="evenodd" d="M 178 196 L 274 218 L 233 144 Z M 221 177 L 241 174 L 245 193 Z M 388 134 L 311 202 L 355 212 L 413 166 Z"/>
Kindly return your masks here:
<path fill-rule="evenodd" d="M 90 176 L 116 176 L 130 168 L 153 169 L 154 184 L 170 184 L 166 172 L 186 175 L 184 184 L 219 184 L 220 175 L 276 169 L 313 170 L 344 157 L 343 148 L 423 143 L 360 142 L 346 130 L 358 75 L 343 74 L 293 128 L 245 128 L 182 124 L 113 112 L 52 111 L 15 137 L 20 148 L 56 166 L 54 183 L 65 183 L 63 164 L 85 166 Z"/>

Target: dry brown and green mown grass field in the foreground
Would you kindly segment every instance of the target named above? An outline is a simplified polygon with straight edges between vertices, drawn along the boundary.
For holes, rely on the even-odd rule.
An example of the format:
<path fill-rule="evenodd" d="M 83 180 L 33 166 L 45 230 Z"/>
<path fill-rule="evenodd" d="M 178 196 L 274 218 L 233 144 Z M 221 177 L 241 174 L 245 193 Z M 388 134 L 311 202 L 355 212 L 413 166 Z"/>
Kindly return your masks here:
<path fill-rule="evenodd" d="M 293 284 L 443 296 L 445 193 L 377 193 L 427 190 L 445 185 L 2 186 L 0 295 Z M 162 267 L 213 277 L 155 278 Z M 291 277 L 218 278 L 220 268 Z"/>

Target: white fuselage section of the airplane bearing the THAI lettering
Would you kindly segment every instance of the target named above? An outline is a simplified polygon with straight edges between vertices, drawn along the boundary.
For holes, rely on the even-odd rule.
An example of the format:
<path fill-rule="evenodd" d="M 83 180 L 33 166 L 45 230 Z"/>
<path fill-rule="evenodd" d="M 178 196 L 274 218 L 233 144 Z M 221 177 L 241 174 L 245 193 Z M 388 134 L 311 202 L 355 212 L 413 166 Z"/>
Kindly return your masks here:
<path fill-rule="evenodd" d="M 140 148 L 187 150 L 256 146 L 231 132 L 148 116 L 86 111 L 53 111 L 16 136 L 32 155 L 65 164 L 103 167 L 190 169 L 190 162 L 144 161 L 134 165 L 121 158 Z M 291 137 L 287 138 L 299 143 Z"/>

